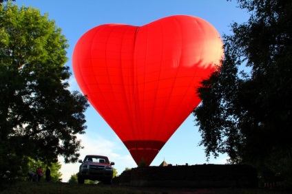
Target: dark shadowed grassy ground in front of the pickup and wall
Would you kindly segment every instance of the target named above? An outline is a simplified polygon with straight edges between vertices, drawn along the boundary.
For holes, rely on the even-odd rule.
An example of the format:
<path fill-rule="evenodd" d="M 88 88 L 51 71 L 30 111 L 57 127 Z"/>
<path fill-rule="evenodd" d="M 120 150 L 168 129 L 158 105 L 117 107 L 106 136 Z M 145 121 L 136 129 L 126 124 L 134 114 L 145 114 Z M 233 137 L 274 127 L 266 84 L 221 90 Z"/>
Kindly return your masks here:
<path fill-rule="evenodd" d="M 263 190 L 260 188 L 141 188 L 126 186 L 105 186 L 103 184 L 68 184 L 62 182 L 19 182 L 6 186 L 6 189 L 0 192 L 17 193 L 98 193 L 98 194 L 215 194 L 215 193 L 286 193 L 285 191 Z"/>

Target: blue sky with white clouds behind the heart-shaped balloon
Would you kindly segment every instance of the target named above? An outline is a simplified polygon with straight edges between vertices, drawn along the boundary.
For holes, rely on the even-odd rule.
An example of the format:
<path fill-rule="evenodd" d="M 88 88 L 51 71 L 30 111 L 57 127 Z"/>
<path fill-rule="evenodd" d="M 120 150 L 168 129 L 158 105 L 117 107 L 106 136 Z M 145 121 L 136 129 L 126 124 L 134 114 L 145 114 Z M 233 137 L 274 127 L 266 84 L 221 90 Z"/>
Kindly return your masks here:
<path fill-rule="evenodd" d="M 105 23 L 124 23 L 129 25 L 145 25 L 157 19 L 176 14 L 187 14 L 200 17 L 211 23 L 218 32 L 229 34 L 229 25 L 236 21 L 242 23 L 247 21 L 246 10 L 237 8 L 235 0 L 16 0 L 15 4 L 26 7 L 32 6 L 47 12 L 49 19 L 54 19 L 56 25 L 62 29 L 70 45 L 67 50 L 69 58 L 66 65 L 72 68 L 72 52 L 78 39 L 97 25 Z M 79 90 L 74 75 L 70 79 L 70 89 Z M 123 142 L 116 136 L 114 131 L 90 107 L 85 112 L 87 120 L 86 134 L 79 136 L 85 149 L 81 150 L 81 158 L 86 154 L 107 155 L 116 165 L 118 174 L 126 167 L 136 167 L 136 163 L 127 151 Z M 220 155 L 217 159 L 211 158 L 206 162 L 204 147 L 198 147 L 200 133 L 198 127 L 194 126 L 194 116 L 189 116 L 168 140 L 163 149 L 160 150 L 152 162 L 152 166 L 158 166 L 163 160 L 168 164 L 225 164 L 227 156 Z M 79 163 L 63 164 L 60 158 L 63 173 L 63 182 L 67 182 L 70 176 L 77 173 Z"/>

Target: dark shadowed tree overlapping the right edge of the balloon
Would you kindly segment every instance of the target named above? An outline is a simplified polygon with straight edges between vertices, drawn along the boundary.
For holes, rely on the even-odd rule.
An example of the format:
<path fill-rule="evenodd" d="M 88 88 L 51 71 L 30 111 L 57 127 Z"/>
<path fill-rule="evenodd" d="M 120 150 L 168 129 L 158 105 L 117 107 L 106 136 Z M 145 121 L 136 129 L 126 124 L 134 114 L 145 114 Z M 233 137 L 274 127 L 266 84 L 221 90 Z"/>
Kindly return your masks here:
<path fill-rule="evenodd" d="M 291 182 L 292 2 L 238 3 L 249 21 L 231 25 L 222 66 L 198 89 L 200 145 L 207 158 L 227 153 L 233 163 L 257 166 L 266 180 L 280 175 Z"/>

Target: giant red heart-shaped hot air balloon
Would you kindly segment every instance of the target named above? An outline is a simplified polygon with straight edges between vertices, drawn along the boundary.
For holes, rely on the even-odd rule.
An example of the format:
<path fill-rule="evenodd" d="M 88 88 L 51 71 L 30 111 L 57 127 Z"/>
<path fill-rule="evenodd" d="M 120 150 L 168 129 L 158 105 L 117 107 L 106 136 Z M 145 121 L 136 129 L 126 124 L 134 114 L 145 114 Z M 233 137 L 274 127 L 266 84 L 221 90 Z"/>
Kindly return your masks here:
<path fill-rule="evenodd" d="M 200 103 L 196 94 L 223 56 L 222 40 L 198 17 L 177 15 L 143 26 L 105 24 L 76 43 L 73 70 L 136 164 L 147 166 Z"/>

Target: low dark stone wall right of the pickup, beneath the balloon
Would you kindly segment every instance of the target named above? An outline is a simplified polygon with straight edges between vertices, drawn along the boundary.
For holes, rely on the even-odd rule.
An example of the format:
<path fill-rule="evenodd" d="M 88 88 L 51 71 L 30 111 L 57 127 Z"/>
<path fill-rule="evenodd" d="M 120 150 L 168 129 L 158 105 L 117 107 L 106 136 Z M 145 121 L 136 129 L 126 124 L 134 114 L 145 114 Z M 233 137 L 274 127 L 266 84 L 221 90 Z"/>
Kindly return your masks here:
<path fill-rule="evenodd" d="M 202 164 L 192 166 L 149 166 L 124 171 L 113 184 L 160 187 L 256 187 L 255 169 L 248 165 Z"/>

